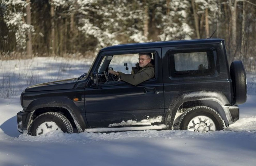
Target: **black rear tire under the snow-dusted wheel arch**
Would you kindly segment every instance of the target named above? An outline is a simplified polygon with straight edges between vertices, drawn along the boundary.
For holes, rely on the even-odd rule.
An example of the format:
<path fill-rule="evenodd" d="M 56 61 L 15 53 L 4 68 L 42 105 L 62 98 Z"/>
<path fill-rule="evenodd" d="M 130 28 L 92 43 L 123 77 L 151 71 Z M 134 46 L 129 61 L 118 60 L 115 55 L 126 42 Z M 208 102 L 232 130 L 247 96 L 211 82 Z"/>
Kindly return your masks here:
<path fill-rule="evenodd" d="M 203 123 L 201 120 L 205 120 L 207 118 L 199 118 L 199 116 L 207 117 L 208 120 Z M 205 125 L 198 124 L 194 122 L 194 119 L 200 119 L 200 121 Z M 211 121 L 213 123 L 211 123 Z M 189 123 L 194 124 L 194 128 L 189 126 Z M 208 124 L 207 124 L 208 123 Z M 190 124 L 191 125 L 191 124 Z M 196 127 L 195 127 L 196 126 Z M 198 128 L 197 128 L 198 127 Z M 204 130 L 200 130 L 204 127 Z M 215 127 L 215 129 L 213 128 Z M 208 132 L 208 131 L 217 131 L 217 130 L 224 130 L 224 123 L 220 116 L 220 114 L 215 111 L 214 109 L 206 106 L 196 106 L 191 109 L 188 109 L 186 112 L 184 112 L 180 118 L 179 122 L 179 130 L 190 130 L 195 132 Z"/>

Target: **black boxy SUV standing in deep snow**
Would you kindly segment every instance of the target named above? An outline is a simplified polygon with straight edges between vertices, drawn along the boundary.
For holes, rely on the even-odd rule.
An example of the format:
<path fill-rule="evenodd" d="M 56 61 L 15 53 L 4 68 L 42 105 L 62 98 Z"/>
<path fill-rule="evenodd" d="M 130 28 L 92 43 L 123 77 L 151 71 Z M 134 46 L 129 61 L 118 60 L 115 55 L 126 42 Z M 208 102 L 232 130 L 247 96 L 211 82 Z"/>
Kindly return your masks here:
<path fill-rule="evenodd" d="M 108 74 L 131 73 L 139 53 L 151 53 L 154 78 L 133 86 Z M 116 45 L 99 51 L 88 74 L 26 88 L 18 130 L 224 130 L 239 119 L 246 92 L 244 66 L 229 68 L 222 39 Z"/>

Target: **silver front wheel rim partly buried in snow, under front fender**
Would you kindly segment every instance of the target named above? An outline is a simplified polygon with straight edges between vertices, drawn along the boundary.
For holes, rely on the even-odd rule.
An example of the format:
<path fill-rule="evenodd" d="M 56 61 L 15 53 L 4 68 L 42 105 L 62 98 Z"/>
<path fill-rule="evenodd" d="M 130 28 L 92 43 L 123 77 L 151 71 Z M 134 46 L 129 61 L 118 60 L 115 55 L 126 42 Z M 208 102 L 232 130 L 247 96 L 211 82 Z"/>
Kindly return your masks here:
<path fill-rule="evenodd" d="M 36 135 L 44 135 L 56 130 L 60 130 L 60 127 L 55 122 L 44 122 L 37 127 Z"/>

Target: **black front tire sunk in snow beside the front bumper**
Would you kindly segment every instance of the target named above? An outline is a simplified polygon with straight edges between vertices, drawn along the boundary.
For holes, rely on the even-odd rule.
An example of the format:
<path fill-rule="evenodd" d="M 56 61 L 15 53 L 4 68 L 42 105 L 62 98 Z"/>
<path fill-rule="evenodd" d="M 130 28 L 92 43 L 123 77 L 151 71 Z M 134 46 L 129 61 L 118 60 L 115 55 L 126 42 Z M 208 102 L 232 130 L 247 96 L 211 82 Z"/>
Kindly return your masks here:
<path fill-rule="evenodd" d="M 40 131 L 41 132 L 40 134 L 37 134 L 39 132 L 39 131 L 37 132 L 37 129 L 42 124 L 47 125 L 48 122 L 56 124 L 56 127 L 60 128 L 60 130 L 63 132 L 67 132 L 67 133 L 74 132 L 72 124 L 70 123 L 68 118 L 66 118 L 64 115 L 57 112 L 46 112 L 37 116 L 33 120 L 33 122 L 29 126 L 28 134 L 33 136 L 41 135 L 41 133 L 45 134 L 43 130 Z M 52 126 L 47 126 L 47 128 L 51 130 Z"/>

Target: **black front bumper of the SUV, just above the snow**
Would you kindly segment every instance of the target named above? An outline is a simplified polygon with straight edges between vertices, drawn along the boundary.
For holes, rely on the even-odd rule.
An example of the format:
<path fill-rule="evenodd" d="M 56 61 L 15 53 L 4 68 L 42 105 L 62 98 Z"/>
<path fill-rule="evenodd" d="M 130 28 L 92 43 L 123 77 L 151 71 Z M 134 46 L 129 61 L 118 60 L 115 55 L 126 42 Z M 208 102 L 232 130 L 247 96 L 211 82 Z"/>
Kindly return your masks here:
<path fill-rule="evenodd" d="M 23 133 L 28 129 L 28 122 L 30 121 L 32 114 L 32 112 L 25 110 L 17 113 L 17 124 L 19 132 Z"/>

